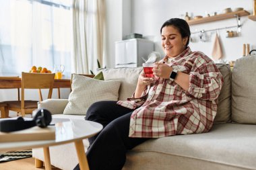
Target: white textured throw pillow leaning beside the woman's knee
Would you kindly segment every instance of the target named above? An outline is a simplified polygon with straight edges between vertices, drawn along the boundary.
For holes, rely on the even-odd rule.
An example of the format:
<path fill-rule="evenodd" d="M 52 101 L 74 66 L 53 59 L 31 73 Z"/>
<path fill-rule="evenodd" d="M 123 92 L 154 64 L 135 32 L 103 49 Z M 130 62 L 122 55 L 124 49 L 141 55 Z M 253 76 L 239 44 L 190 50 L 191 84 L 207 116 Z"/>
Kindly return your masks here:
<path fill-rule="evenodd" d="M 84 75 L 73 74 L 69 103 L 63 114 L 86 115 L 96 101 L 115 101 L 119 97 L 121 81 L 102 81 Z"/>

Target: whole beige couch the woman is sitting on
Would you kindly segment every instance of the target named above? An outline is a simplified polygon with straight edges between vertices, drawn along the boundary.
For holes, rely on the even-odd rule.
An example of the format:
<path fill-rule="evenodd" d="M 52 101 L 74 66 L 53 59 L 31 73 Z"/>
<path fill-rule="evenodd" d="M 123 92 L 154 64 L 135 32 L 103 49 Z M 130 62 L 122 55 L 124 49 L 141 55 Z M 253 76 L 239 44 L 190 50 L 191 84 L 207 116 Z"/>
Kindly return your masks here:
<path fill-rule="evenodd" d="M 148 140 L 127 153 L 123 169 L 256 169 L 255 67 L 255 56 L 237 60 L 232 73 L 229 65 L 219 64 L 224 86 L 212 130 Z M 106 80 L 121 79 L 119 99 L 125 99 L 134 91 L 140 71 L 141 68 L 106 69 L 103 73 Z M 84 119 L 61 114 L 67 102 L 49 99 L 38 107 L 48 108 L 53 118 Z M 84 143 L 87 148 L 87 140 Z M 60 169 L 73 169 L 78 162 L 73 144 L 51 147 L 50 153 L 52 165 Z M 33 157 L 43 160 L 42 149 L 33 149 Z"/>

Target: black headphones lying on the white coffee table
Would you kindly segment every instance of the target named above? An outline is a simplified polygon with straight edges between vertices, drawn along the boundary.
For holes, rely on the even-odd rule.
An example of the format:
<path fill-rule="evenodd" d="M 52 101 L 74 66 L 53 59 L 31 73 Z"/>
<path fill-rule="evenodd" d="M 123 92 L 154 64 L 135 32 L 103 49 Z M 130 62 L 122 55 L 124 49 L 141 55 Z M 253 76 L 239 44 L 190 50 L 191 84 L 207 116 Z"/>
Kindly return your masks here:
<path fill-rule="evenodd" d="M 13 132 L 24 130 L 33 126 L 46 128 L 52 120 L 51 112 L 46 109 L 37 109 L 32 112 L 32 120 L 24 120 L 18 117 L 15 120 L 0 120 L 0 132 Z"/>

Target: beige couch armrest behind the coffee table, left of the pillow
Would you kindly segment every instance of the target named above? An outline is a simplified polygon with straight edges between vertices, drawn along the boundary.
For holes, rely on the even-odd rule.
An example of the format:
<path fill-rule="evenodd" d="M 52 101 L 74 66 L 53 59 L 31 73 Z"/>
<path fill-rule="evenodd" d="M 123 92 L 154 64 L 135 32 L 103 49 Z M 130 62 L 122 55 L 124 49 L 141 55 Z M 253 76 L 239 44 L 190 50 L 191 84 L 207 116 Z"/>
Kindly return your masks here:
<path fill-rule="evenodd" d="M 68 99 L 46 99 L 38 102 L 38 108 L 49 110 L 51 114 L 63 114 L 68 102 Z"/>

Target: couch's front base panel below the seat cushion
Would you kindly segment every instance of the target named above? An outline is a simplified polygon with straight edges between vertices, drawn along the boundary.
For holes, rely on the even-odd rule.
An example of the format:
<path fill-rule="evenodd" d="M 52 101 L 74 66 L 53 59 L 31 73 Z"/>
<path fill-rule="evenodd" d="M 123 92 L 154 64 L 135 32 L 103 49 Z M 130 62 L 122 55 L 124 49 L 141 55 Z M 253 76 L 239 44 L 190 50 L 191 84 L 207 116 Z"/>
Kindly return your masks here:
<path fill-rule="evenodd" d="M 139 161 L 138 161 L 139 160 Z M 160 168 L 161 169 L 160 169 Z M 177 155 L 166 155 L 163 153 L 127 153 L 127 162 L 122 170 L 248 170 L 241 167 L 224 165 L 193 159 L 189 157 L 180 157 Z"/>

